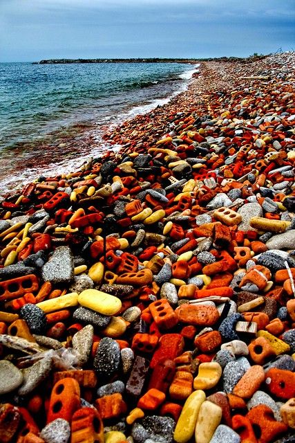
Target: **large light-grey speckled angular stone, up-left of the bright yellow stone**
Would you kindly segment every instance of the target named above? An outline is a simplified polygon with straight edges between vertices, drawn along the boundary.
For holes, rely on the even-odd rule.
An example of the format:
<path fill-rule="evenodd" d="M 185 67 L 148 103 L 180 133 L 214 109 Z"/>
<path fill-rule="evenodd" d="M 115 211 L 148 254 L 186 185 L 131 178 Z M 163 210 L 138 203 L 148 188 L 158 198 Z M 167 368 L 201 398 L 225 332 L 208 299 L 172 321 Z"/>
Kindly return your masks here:
<path fill-rule="evenodd" d="M 53 284 L 68 283 L 74 276 L 73 255 L 68 246 L 55 249 L 49 261 L 41 269 L 43 280 Z"/>

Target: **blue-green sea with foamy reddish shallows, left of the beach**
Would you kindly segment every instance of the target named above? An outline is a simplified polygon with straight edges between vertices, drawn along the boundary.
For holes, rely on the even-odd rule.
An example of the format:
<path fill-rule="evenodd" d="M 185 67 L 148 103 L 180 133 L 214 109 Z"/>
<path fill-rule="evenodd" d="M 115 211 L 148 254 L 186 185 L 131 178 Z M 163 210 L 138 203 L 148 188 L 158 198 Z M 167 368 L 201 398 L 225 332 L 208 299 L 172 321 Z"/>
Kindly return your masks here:
<path fill-rule="evenodd" d="M 0 195 L 116 149 L 102 134 L 169 102 L 198 66 L 0 63 Z"/>

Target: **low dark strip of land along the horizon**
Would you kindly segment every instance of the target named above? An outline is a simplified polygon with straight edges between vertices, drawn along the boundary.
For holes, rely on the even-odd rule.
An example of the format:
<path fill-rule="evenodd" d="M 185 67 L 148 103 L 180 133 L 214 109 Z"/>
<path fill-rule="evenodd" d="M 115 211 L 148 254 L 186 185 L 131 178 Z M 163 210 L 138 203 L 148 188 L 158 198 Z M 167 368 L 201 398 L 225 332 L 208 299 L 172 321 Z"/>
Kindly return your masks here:
<path fill-rule="evenodd" d="M 245 60 L 243 57 L 219 57 L 219 58 L 60 58 L 40 60 L 32 64 L 68 64 L 68 63 L 189 63 L 207 62 L 210 60 L 233 61 Z"/>

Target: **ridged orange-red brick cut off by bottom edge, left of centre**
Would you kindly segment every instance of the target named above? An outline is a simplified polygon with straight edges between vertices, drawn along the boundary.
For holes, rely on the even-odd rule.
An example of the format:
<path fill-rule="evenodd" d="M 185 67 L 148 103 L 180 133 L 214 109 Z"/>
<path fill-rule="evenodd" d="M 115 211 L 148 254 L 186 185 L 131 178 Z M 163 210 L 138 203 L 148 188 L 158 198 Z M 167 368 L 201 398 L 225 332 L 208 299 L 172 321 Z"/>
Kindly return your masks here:
<path fill-rule="evenodd" d="M 93 408 L 76 410 L 70 427 L 70 443 L 104 443 L 104 425 Z"/>

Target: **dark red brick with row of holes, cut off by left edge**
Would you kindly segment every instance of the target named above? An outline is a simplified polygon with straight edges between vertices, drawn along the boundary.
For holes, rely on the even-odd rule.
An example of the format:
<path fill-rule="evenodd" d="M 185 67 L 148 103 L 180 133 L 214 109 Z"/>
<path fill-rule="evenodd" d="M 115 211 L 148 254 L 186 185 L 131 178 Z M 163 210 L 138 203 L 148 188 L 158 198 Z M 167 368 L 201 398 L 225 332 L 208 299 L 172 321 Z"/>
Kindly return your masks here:
<path fill-rule="evenodd" d="M 5 280 L 0 282 L 0 302 L 19 298 L 25 293 L 37 291 L 38 288 L 39 282 L 34 274 Z"/>

